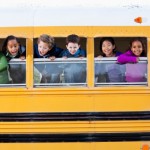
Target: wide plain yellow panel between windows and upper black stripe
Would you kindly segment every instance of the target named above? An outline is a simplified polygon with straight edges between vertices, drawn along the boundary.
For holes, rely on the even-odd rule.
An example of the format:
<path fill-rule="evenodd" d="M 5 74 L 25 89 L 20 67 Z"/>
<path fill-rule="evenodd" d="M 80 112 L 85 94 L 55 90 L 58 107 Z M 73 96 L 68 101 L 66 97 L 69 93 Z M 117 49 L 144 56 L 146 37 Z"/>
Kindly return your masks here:
<path fill-rule="evenodd" d="M 149 111 L 149 94 L 37 94 L 0 96 L 1 112 Z"/>

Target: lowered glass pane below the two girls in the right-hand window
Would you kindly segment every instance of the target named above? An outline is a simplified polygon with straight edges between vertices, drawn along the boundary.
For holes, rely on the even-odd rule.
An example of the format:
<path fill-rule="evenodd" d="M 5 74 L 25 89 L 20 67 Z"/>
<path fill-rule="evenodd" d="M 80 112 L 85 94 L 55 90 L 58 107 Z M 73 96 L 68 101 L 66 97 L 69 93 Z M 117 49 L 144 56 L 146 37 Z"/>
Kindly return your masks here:
<path fill-rule="evenodd" d="M 136 64 L 119 64 L 116 58 L 95 58 L 95 85 L 147 85 L 147 58 L 140 60 Z"/>

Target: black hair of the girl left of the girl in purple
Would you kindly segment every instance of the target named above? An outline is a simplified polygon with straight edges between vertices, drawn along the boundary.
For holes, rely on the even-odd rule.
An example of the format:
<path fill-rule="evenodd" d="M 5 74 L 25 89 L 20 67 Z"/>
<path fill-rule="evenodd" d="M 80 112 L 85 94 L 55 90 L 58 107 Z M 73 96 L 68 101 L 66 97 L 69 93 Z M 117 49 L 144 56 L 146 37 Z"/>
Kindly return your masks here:
<path fill-rule="evenodd" d="M 102 51 L 102 44 L 103 44 L 104 41 L 109 41 L 112 45 L 115 45 L 115 41 L 112 37 L 103 37 L 103 38 L 101 38 L 101 40 L 100 40 L 100 52 L 102 53 L 103 57 L 106 57 L 106 55 Z M 113 49 L 113 53 L 114 54 L 116 53 L 115 48 Z"/>

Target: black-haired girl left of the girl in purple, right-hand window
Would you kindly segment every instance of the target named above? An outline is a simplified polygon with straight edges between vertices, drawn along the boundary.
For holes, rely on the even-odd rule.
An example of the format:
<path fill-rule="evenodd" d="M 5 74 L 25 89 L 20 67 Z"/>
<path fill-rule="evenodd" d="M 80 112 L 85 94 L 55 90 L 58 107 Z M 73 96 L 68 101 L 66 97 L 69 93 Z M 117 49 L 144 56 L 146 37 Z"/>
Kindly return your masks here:
<path fill-rule="evenodd" d="M 100 40 L 100 52 L 101 55 L 98 58 L 117 57 L 121 54 L 121 52 L 116 51 L 115 41 L 112 37 L 103 37 Z M 98 63 L 95 65 L 95 81 L 100 83 L 123 82 L 124 77 L 118 64 Z"/>

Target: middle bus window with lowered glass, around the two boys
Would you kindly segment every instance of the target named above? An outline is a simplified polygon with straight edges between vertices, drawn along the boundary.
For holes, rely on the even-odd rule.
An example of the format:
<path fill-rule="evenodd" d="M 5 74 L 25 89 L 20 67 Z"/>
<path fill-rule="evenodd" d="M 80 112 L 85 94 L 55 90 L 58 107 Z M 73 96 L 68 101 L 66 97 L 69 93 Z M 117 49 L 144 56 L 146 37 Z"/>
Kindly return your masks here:
<path fill-rule="evenodd" d="M 42 35 L 43 36 L 43 35 Z M 62 52 L 66 50 L 66 37 L 55 37 L 54 46 L 50 50 L 53 52 Z M 34 53 L 39 53 L 40 49 L 35 45 L 38 39 L 34 39 Z M 81 49 L 86 50 L 86 38 L 80 38 Z M 40 44 L 39 44 L 40 45 Z M 53 51 L 54 49 L 54 51 Z M 86 51 L 85 51 L 86 53 Z M 61 54 L 61 53 L 59 53 Z M 57 87 L 57 86 L 86 86 L 86 58 L 70 57 L 63 58 L 63 55 L 56 55 L 54 60 L 45 54 L 43 56 L 34 55 L 34 87 Z"/>

